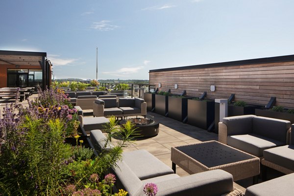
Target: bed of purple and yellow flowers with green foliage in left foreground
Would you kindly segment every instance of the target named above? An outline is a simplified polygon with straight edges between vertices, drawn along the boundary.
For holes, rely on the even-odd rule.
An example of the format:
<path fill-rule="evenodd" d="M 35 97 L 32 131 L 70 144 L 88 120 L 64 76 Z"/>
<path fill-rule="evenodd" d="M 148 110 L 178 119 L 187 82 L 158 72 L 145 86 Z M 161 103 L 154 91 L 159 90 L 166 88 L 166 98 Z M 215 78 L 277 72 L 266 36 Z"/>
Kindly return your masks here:
<path fill-rule="evenodd" d="M 86 137 L 77 134 L 76 110 L 61 90 L 45 90 L 27 108 L 6 105 L 0 111 L 0 193 L 38 196 L 126 196 L 112 194 L 109 168 L 122 159 L 133 127 L 117 131 L 111 118 L 106 130 L 120 141 L 95 156 Z M 68 139 L 72 138 L 72 139 Z M 74 145 L 65 141 L 73 140 Z"/>

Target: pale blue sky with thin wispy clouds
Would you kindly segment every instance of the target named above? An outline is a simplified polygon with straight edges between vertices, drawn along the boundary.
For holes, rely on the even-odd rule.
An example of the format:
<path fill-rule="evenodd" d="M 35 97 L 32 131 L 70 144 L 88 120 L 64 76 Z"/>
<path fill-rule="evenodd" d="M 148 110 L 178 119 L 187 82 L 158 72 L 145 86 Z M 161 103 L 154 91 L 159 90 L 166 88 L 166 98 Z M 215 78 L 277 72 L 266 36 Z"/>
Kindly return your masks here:
<path fill-rule="evenodd" d="M 55 78 L 294 54 L 294 0 L 1 0 L 0 50 L 47 52 Z"/>

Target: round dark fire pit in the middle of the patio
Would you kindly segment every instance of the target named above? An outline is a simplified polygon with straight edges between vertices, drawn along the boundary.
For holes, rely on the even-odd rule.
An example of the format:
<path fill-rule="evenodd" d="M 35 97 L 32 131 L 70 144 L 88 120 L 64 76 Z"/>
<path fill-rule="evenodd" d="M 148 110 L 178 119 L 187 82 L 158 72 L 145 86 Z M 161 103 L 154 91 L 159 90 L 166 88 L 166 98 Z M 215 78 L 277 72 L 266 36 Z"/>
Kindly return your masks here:
<path fill-rule="evenodd" d="M 159 123 L 151 118 L 128 118 L 121 120 L 120 125 L 122 126 L 126 121 L 131 121 L 135 125 L 139 137 L 152 137 L 159 132 Z"/>

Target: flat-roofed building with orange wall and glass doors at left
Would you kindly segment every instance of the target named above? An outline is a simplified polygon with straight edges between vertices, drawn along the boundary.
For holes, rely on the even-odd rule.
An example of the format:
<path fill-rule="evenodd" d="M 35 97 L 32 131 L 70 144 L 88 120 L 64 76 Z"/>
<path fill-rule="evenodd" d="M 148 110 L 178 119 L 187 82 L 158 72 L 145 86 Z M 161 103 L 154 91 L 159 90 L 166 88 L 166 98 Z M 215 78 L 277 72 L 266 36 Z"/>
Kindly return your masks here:
<path fill-rule="evenodd" d="M 46 52 L 0 50 L 0 87 L 51 85 L 51 66 Z"/>

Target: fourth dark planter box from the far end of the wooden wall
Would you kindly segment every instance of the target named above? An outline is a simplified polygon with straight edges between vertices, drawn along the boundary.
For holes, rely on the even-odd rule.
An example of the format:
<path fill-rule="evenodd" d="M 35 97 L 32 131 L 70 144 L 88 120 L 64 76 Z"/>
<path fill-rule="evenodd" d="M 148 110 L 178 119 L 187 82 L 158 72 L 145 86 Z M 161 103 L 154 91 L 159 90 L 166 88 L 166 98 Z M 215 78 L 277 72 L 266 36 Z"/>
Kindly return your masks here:
<path fill-rule="evenodd" d="M 215 102 L 188 100 L 188 121 L 189 125 L 208 130 L 215 117 Z"/>

